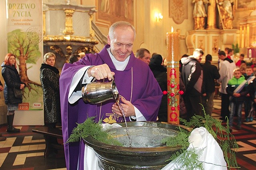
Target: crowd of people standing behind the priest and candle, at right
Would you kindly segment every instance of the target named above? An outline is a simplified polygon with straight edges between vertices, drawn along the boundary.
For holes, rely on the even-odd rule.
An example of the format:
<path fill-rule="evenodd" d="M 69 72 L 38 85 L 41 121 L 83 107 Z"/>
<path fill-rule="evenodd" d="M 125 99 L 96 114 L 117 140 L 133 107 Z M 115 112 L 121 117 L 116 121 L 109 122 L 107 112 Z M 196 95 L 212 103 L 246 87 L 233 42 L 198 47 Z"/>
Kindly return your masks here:
<path fill-rule="evenodd" d="M 254 74 L 256 74 L 256 58 L 244 61 L 241 54 L 235 62 L 234 50 L 225 48 L 219 51 L 218 68 L 212 63 L 212 55 L 207 54 L 205 63 L 200 63 L 204 52 L 195 49 L 192 55 L 183 55 L 180 60 L 180 85 L 185 92 L 180 97 L 180 117 L 190 120 L 196 115 L 202 115 L 203 105 L 205 113 L 211 115 L 213 99 L 216 94 L 216 86 L 220 86 L 221 95 L 221 118 L 223 121 L 229 119 L 230 130 L 233 127 L 233 117 L 238 116 L 237 129 L 241 129 L 242 106 L 244 106 L 245 121 L 254 119 L 255 113 L 255 85 Z M 167 88 L 166 58 L 150 52 L 147 49 L 138 49 L 136 57 L 149 64 L 162 91 Z M 251 83 L 252 82 L 252 83 Z M 241 84 L 241 85 L 240 85 Z M 240 89 L 237 92 L 236 88 Z M 184 103 L 183 103 L 184 102 Z M 158 111 L 158 121 L 167 121 L 167 95 L 162 97 Z"/>

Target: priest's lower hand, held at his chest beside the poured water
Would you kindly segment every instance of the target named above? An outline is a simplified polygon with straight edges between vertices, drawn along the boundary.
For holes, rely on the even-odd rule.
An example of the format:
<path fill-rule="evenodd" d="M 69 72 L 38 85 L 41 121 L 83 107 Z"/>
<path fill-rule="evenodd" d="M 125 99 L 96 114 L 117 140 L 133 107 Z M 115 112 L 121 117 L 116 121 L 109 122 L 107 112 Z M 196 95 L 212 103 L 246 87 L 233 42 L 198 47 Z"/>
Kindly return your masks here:
<path fill-rule="evenodd" d="M 134 106 L 132 105 L 132 103 L 128 100 L 125 100 L 123 97 L 121 97 L 121 101 L 124 104 L 121 104 L 122 107 L 124 108 L 124 115 L 125 117 L 129 117 L 129 116 L 136 116 L 135 115 L 135 109 Z M 119 106 L 117 103 L 113 104 L 112 106 L 112 110 L 114 110 L 114 112 L 120 116 L 123 116 Z"/>

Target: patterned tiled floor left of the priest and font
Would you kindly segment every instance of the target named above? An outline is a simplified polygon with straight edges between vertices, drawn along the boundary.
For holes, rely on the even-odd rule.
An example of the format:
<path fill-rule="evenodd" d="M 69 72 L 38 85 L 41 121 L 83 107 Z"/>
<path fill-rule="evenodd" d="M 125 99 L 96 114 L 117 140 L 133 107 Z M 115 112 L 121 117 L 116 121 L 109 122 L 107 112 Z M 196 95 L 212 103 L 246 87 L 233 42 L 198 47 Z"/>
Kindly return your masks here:
<path fill-rule="evenodd" d="M 7 133 L 6 125 L 0 126 L 7 138 L 0 142 L 0 170 L 66 170 L 64 151 L 44 158 L 44 136 L 33 133 L 34 127 L 23 126 L 20 133 Z"/>

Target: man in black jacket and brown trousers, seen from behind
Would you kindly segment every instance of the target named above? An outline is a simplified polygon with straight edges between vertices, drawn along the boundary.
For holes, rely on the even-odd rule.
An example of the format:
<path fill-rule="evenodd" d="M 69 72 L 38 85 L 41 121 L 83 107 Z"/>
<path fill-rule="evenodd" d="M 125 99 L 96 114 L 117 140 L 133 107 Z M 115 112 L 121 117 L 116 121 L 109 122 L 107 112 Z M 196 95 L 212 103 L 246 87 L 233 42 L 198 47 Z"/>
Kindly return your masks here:
<path fill-rule="evenodd" d="M 203 94 L 202 94 L 202 104 L 204 106 L 205 112 L 208 115 L 212 114 L 213 98 L 215 92 L 215 82 L 220 78 L 218 68 L 211 64 L 212 56 L 210 54 L 206 55 L 205 63 L 203 64 Z"/>

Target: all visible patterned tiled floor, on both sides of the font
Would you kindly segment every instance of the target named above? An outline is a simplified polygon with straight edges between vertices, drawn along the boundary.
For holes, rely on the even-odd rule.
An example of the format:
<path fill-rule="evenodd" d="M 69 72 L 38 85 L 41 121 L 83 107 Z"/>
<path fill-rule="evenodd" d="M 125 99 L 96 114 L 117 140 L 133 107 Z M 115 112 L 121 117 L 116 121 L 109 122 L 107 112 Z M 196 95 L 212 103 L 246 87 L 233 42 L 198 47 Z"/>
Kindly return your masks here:
<path fill-rule="evenodd" d="M 220 117 L 219 109 L 220 100 L 214 100 L 212 117 Z M 44 158 L 44 137 L 33 133 L 34 127 L 17 127 L 20 133 L 7 133 L 6 125 L 0 125 L 0 132 L 7 138 L 0 142 L 0 170 L 66 170 L 63 151 Z M 239 170 L 256 170 L 256 121 L 243 123 L 242 130 L 234 128 L 232 134 L 239 145 Z"/>

